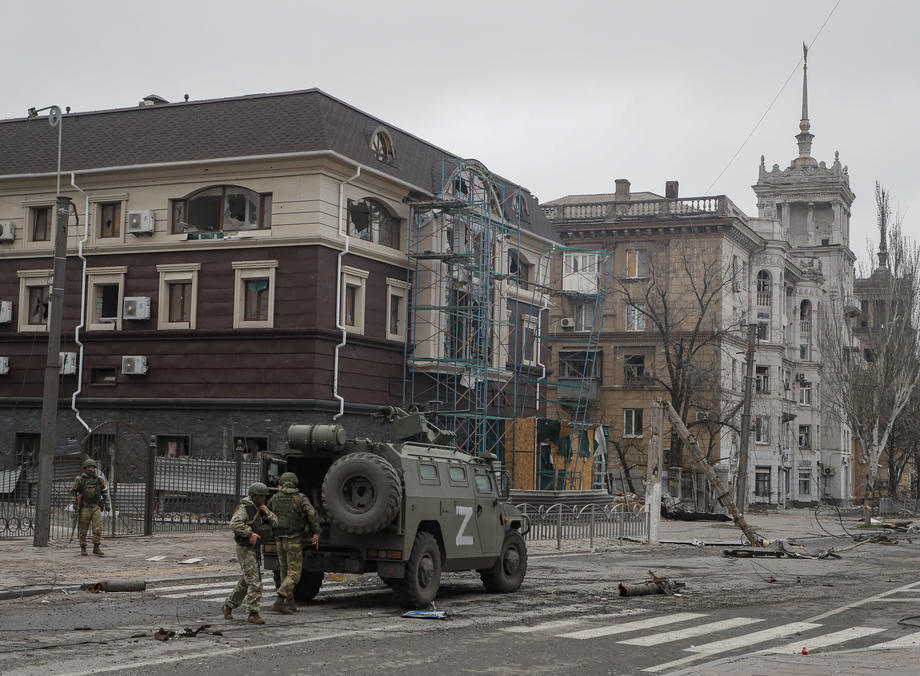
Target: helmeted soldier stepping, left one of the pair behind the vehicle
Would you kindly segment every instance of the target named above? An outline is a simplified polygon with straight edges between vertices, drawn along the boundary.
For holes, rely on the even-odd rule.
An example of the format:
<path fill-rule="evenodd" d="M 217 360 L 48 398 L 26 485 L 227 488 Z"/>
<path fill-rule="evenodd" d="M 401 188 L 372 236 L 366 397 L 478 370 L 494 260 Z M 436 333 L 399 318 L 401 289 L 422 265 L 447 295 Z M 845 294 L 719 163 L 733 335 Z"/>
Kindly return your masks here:
<path fill-rule="evenodd" d="M 265 505 L 266 500 L 268 486 L 257 481 L 249 487 L 249 497 L 243 498 L 230 519 L 230 528 L 236 540 L 236 558 L 240 562 L 243 576 L 224 602 L 222 610 L 225 620 L 233 619 L 233 609 L 245 598 L 249 609 L 249 621 L 253 624 L 265 624 L 265 620 L 259 615 L 262 605 L 262 574 L 257 557 L 262 534 L 278 525 L 278 517 Z"/>

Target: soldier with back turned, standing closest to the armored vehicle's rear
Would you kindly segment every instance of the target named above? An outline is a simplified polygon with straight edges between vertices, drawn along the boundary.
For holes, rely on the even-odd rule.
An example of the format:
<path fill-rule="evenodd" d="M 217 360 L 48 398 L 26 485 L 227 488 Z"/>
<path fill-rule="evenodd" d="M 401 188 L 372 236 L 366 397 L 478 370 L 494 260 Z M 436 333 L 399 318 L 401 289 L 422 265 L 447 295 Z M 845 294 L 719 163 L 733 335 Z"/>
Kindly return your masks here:
<path fill-rule="evenodd" d="M 268 501 L 269 508 L 278 516 L 275 542 L 278 546 L 278 564 L 281 568 L 281 585 L 273 610 L 290 615 L 297 610 L 294 587 L 300 582 L 303 569 L 303 539 L 310 536 L 310 544 L 319 545 L 319 519 L 310 500 L 297 490 L 297 475 L 285 472 L 279 479 L 280 490 Z"/>

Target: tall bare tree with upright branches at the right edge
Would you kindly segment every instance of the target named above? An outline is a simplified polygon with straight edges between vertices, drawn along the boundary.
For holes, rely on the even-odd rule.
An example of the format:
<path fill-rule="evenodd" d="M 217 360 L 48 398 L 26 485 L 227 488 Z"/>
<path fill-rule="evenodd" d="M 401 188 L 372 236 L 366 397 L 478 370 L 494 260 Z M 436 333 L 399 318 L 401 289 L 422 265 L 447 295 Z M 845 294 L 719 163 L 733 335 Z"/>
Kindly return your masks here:
<path fill-rule="evenodd" d="M 883 451 L 920 382 L 920 248 L 892 221 L 888 192 L 875 190 L 881 234 L 879 266 L 869 278 L 872 322 L 860 350 L 843 299 L 825 303 L 818 346 L 824 363 L 824 398 L 847 423 L 868 463 L 866 498 L 876 495 Z M 868 518 L 868 511 L 866 518 Z"/>

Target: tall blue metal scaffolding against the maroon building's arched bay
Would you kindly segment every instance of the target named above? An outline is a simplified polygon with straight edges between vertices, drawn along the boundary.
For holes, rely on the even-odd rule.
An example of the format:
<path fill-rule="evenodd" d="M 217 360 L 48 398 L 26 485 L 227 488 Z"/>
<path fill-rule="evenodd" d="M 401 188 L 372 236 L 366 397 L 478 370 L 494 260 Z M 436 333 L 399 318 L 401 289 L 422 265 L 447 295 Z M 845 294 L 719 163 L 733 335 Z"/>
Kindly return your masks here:
<path fill-rule="evenodd" d="M 540 407 L 549 251 L 522 247 L 520 186 L 474 160 L 444 161 L 441 185 L 411 205 L 403 402 L 504 460 L 505 421 Z"/>

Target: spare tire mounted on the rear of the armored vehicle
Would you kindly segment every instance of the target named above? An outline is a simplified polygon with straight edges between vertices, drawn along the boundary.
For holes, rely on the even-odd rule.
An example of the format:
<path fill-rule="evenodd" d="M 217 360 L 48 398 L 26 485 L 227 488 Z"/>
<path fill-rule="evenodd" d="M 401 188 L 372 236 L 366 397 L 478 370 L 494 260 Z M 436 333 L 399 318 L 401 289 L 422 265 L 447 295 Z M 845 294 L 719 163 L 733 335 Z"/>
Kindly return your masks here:
<path fill-rule="evenodd" d="M 401 501 L 399 475 L 373 453 L 343 455 L 323 480 L 323 504 L 331 521 L 352 535 L 385 528 L 399 513 Z"/>

